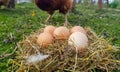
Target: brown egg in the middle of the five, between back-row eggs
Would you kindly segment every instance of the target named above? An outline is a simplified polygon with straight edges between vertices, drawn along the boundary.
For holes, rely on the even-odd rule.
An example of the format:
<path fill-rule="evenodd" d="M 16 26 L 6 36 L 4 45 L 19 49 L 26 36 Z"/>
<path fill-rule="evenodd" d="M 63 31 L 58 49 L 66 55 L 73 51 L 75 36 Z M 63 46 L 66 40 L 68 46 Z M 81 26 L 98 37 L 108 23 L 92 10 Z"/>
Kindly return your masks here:
<path fill-rule="evenodd" d="M 55 39 L 65 40 L 65 39 L 68 39 L 70 32 L 68 28 L 61 26 L 54 30 L 53 35 Z"/>

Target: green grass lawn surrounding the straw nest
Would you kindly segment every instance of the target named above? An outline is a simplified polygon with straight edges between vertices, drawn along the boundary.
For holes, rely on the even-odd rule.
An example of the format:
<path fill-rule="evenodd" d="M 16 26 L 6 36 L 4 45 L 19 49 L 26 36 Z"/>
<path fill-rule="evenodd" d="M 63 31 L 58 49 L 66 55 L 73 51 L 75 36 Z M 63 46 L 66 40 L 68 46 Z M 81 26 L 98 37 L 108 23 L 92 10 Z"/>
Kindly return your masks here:
<path fill-rule="evenodd" d="M 35 16 L 32 16 L 32 11 L 35 12 Z M 46 18 L 47 13 L 34 4 L 19 4 L 13 10 L 0 9 L 0 58 L 12 53 L 17 42 L 23 40 L 23 36 L 43 28 Z M 120 11 L 99 11 L 95 7 L 77 5 L 76 13 L 70 13 L 68 19 L 71 25 L 90 26 L 97 34 L 111 39 L 111 44 L 120 46 Z M 50 24 L 61 26 L 63 21 L 64 16 L 56 12 Z M 117 54 L 120 59 L 120 52 Z M 0 59 L 0 71 L 8 72 L 9 59 L 14 58 L 15 54 Z"/>

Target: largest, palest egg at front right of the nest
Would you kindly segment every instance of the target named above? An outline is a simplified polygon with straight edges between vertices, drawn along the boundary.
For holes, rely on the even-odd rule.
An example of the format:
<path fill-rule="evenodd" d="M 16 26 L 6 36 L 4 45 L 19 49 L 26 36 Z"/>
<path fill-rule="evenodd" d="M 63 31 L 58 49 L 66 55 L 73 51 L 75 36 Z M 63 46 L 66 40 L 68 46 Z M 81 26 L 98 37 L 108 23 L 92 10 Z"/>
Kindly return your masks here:
<path fill-rule="evenodd" d="M 82 32 L 74 32 L 68 39 L 68 45 L 77 48 L 79 52 L 82 52 L 88 47 L 88 38 Z"/>

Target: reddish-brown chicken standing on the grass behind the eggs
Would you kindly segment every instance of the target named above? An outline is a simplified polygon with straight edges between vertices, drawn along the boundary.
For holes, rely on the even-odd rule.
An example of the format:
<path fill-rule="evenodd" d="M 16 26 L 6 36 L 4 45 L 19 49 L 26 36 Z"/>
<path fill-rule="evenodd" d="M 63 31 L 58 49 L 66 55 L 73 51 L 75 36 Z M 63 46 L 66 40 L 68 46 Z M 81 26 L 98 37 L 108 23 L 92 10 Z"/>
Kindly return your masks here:
<path fill-rule="evenodd" d="M 45 22 L 49 21 L 55 10 L 59 10 L 60 13 L 65 15 L 64 25 L 69 24 L 67 15 L 72 9 L 73 0 L 35 0 L 35 4 L 49 14 Z"/>

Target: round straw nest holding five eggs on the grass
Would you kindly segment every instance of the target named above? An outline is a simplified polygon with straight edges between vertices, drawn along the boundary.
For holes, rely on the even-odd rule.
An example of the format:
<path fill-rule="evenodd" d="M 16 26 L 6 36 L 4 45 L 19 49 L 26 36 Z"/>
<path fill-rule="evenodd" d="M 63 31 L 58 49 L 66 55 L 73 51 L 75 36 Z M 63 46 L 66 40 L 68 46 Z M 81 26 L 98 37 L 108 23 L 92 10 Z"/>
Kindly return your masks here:
<path fill-rule="evenodd" d="M 45 48 L 36 43 L 37 35 L 34 33 L 18 43 L 18 51 L 12 63 L 11 71 L 17 72 L 112 72 L 120 70 L 120 61 L 115 58 L 117 49 L 109 42 L 100 38 L 90 28 L 86 28 L 89 47 L 83 55 L 77 55 L 69 49 L 67 40 L 56 40 Z M 31 55 L 49 55 L 44 60 L 28 62 Z"/>

